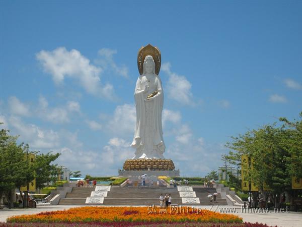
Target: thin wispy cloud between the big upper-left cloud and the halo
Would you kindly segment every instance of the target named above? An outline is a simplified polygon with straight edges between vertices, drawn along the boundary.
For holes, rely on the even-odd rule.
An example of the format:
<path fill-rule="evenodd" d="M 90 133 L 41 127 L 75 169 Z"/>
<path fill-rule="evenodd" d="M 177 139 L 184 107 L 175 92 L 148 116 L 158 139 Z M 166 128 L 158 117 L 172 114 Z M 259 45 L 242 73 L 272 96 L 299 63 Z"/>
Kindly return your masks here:
<path fill-rule="evenodd" d="M 97 64 L 100 64 L 104 69 L 112 69 L 116 74 L 125 78 L 129 78 L 128 68 L 126 66 L 117 66 L 113 60 L 113 54 L 116 54 L 115 49 L 102 48 L 98 51 L 100 59 L 96 60 Z"/>

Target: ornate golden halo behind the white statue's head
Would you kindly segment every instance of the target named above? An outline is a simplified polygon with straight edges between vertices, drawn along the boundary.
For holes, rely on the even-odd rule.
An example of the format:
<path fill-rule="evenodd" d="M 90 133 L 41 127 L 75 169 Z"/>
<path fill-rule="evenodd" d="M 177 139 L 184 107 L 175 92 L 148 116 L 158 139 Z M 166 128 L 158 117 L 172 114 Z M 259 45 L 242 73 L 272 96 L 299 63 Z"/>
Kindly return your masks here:
<path fill-rule="evenodd" d="M 144 61 L 146 55 L 153 56 L 153 59 L 155 62 L 155 73 L 156 73 L 156 75 L 159 75 L 160 69 L 161 69 L 161 63 L 162 63 L 161 51 L 159 48 L 157 48 L 156 46 L 153 46 L 151 44 L 142 46 L 138 50 L 137 67 L 138 67 L 139 74 L 142 75 L 142 73 L 143 73 L 143 61 Z"/>

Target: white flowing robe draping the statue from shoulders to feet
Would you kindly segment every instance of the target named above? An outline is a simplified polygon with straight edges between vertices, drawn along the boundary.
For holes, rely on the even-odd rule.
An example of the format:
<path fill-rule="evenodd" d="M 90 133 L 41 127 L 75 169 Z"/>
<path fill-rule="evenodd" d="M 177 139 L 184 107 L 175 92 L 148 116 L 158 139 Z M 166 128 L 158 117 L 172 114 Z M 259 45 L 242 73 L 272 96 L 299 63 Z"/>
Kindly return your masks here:
<path fill-rule="evenodd" d="M 131 144 L 131 147 L 136 148 L 135 157 L 139 158 L 143 153 L 148 158 L 164 158 L 163 153 L 165 152 L 165 143 L 163 139 L 163 128 L 162 128 L 162 111 L 163 111 L 163 102 L 164 102 L 164 93 L 162 88 L 161 79 L 158 76 L 155 76 L 155 81 L 152 87 L 150 87 L 147 94 L 143 93 L 145 85 L 148 84 L 148 79 L 145 76 L 141 75 L 138 77 L 135 91 L 135 107 L 136 107 L 136 126 L 134 138 Z M 146 101 L 146 96 L 158 91 L 158 94 L 154 96 L 153 108 L 149 110 L 148 116 L 152 116 L 152 129 L 148 129 L 150 124 L 146 122 L 146 105 L 150 101 Z M 150 138 L 153 138 L 153 150 L 144 150 L 146 147 L 145 143 L 147 141 L 148 135 L 146 131 L 150 130 L 153 132 L 153 135 Z M 144 157 L 145 157 L 144 156 Z"/>

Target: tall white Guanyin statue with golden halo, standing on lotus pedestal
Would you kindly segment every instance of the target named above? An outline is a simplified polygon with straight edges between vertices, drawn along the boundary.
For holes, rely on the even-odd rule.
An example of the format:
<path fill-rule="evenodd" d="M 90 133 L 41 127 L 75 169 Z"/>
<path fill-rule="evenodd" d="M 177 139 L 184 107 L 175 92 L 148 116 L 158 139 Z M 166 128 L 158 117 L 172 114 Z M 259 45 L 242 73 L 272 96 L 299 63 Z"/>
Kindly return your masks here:
<path fill-rule="evenodd" d="M 134 98 L 136 107 L 136 127 L 131 147 L 135 148 L 138 158 L 164 158 L 165 143 L 162 129 L 164 92 L 160 77 L 161 56 L 156 47 L 146 46 L 139 51 L 137 79 Z M 152 55 L 146 55 L 149 52 Z M 156 61 L 154 59 L 156 58 Z"/>

